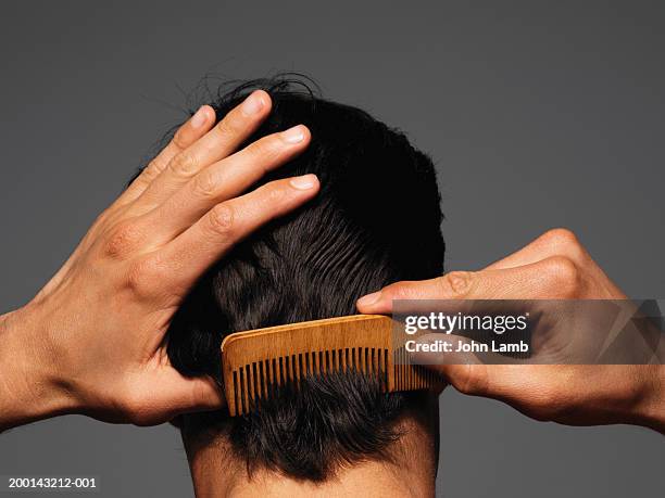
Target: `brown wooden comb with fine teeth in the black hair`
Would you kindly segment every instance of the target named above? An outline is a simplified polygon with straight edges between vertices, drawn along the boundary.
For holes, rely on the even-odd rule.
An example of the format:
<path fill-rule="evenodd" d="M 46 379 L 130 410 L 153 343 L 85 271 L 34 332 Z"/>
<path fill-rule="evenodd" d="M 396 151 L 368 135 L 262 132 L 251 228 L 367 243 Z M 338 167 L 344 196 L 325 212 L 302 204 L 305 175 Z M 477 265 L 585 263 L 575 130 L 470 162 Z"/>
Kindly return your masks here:
<path fill-rule="evenodd" d="M 412 365 L 404 334 L 378 315 L 354 315 L 236 332 L 222 342 L 224 390 L 231 417 L 247 414 L 279 386 L 308 375 L 356 371 L 379 379 L 384 392 L 442 386 L 431 370 Z M 400 344 L 396 344 L 400 343 Z"/>

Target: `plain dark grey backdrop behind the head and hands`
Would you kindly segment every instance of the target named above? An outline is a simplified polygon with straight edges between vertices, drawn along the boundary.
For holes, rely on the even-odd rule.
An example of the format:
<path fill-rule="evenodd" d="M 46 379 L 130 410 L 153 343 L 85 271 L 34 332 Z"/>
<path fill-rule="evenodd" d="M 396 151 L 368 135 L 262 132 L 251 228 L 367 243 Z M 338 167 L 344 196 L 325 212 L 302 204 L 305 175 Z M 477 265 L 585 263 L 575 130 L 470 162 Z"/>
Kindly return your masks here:
<path fill-rule="evenodd" d="M 2 4 L 2 310 L 57 270 L 202 76 L 284 69 L 432 154 L 449 269 L 566 226 L 628 294 L 663 297 L 662 2 L 96 3 Z M 655 433 L 532 422 L 452 390 L 441 407 L 446 496 L 663 491 Z M 83 417 L 1 435 L 0 474 L 191 495 L 174 429 Z"/>

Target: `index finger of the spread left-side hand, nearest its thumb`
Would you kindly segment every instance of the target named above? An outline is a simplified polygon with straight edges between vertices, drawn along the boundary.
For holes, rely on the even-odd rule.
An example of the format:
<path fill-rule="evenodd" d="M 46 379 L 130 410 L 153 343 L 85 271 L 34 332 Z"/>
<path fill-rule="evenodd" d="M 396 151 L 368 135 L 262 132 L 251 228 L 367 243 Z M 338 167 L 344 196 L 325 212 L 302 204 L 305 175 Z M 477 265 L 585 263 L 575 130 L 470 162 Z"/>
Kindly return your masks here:
<path fill-rule="evenodd" d="M 158 252 L 163 284 L 181 297 L 236 243 L 262 225 L 304 204 L 318 192 L 315 175 L 276 180 L 217 204 Z M 163 265 L 162 265 L 163 264 Z"/>

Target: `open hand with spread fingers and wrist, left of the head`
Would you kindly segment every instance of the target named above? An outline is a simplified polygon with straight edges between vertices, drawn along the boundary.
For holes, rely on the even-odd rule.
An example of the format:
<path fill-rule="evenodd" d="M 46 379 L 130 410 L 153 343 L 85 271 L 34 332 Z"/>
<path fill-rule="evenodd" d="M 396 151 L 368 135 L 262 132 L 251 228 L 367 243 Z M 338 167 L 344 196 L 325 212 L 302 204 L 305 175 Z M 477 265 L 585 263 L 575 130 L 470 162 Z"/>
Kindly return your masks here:
<path fill-rule="evenodd" d="M 202 106 L 35 298 L 0 317 L 0 431 L 61 413 L 158 424 L 223 406 L 212 380 L 170 365 L 163 339 L 210 265 L 318 191 L 305 175 L 246 192 L 310 141 L 297 126 L 238 151 L 271 105 L 255 91 L 217 125 Z"/>

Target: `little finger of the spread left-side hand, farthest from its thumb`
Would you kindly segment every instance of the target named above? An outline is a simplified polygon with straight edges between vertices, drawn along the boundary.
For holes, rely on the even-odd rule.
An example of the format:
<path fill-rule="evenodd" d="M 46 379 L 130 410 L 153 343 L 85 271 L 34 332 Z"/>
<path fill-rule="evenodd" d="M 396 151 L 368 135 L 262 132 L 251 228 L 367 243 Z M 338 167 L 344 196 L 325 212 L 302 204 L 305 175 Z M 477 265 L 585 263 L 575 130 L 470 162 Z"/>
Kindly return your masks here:
<path fill-rule="evenodd" d="M 173 136 L 168 144 L 150 162 L 141 174 L 131 182 L 118 199 L 126 204 L 138 197 L 148 186 L 162 173 L 168 162 L 190 146 L 210 130 L 215 123 L 215 111 L 210 105 L 202 105 Z"/>

